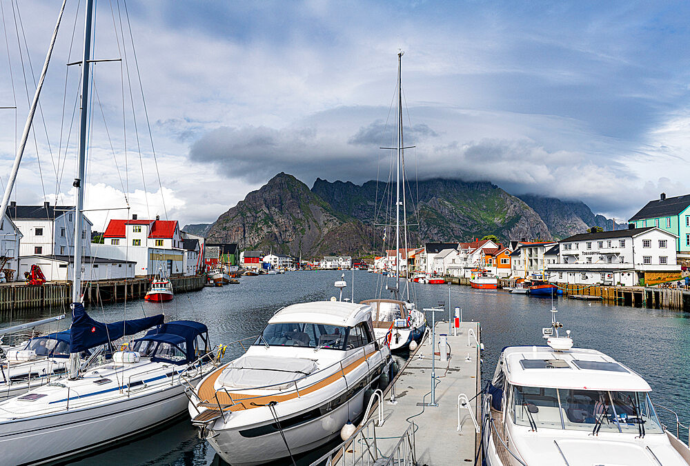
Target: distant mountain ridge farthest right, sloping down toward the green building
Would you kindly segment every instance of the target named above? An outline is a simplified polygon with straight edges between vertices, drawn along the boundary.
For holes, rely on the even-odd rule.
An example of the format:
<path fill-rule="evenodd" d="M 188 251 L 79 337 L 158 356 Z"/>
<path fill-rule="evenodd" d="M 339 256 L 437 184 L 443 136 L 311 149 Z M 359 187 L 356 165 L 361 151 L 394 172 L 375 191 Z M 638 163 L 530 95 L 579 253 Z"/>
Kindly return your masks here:
<path fill-rule="evenodd" d="M 602 227 L 604 231 L 627 228 L 627 223 L 615 223 L 603 215 L 594 214 L 582 201 L 561 201 L 536 194 L 518 197 L 539 214 L 555 239 L 584 233 L 589 227 L 595 226 Z"/>

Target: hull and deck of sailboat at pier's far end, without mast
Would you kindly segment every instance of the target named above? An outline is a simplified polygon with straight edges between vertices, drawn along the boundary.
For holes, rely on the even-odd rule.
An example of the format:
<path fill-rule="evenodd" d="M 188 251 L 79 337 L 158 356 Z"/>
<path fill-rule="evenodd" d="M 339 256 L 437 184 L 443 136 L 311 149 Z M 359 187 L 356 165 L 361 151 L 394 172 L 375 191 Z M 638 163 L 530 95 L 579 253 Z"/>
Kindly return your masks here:
<path fill-rule="evenodd" d="M 413 303 L 394 299 L 368 299 L 371 305 L 374 335 L 385 338 L 391 351 L 407 350 L 414 341 L 419 345 L 426 330 L 426 317 Z"/>

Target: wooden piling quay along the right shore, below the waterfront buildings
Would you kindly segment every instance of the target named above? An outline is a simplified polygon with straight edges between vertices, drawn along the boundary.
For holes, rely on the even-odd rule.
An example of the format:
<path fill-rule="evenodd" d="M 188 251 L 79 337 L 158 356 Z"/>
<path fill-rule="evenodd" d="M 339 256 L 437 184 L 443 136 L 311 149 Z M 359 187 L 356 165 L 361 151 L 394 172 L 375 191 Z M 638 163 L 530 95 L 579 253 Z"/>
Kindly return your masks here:
<path fill-rule="evenodd" d="M 469 278 L 446 277 L 453 285 L 469 285 Z M 511 280 L 499 279 L 498 287 L 509 287 Z M 658 287 L 622 287 L 605 285 L 569 285 L 556 283 L 564 296 L 597 298 L 605 303 L 649 309 L 671 309 L 690 312 L 690 292 Z M 585 297 L 587 296 L 587 297 Z"/>

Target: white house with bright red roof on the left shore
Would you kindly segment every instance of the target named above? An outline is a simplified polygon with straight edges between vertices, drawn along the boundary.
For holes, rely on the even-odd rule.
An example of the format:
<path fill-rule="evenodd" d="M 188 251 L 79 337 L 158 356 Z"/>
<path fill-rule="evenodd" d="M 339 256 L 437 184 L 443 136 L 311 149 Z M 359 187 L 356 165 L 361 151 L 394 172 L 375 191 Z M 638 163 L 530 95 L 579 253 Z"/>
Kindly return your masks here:
<path fill-rule="evenodd" d="M 103 233 L 100 256 L 137 262 L 137 276 L 184 274 L 184 244 L 176 220 L 111 220 Z"/>

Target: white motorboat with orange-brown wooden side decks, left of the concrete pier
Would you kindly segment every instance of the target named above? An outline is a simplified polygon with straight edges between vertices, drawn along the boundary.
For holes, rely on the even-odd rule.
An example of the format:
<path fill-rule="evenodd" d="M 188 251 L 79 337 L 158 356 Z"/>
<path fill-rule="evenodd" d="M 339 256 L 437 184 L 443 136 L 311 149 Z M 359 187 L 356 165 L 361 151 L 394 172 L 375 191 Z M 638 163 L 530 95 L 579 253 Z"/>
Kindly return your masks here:
<path fill-rule="evenodd" d="M 232 465 L 306 452 L 363 416 L 366 394 L 388 373 L 367 304 L 284 307 L 246 353 L 196 387 L 192 423 Z"/>

